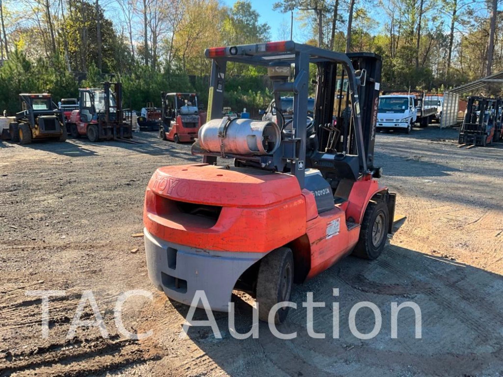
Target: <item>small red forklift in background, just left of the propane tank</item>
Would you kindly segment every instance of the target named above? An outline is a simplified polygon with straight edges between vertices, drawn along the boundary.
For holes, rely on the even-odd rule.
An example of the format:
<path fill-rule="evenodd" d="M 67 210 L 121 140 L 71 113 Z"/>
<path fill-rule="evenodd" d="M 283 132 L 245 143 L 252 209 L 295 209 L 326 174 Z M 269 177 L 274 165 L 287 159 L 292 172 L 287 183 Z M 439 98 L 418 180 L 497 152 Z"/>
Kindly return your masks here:
<path fill-rule="evenodd" d="M 159 137 L 177 144 L 194 141 L 206 121 L 206 113 L 199 112 L 196 93 L 161 92 L 161 101 Z"/>

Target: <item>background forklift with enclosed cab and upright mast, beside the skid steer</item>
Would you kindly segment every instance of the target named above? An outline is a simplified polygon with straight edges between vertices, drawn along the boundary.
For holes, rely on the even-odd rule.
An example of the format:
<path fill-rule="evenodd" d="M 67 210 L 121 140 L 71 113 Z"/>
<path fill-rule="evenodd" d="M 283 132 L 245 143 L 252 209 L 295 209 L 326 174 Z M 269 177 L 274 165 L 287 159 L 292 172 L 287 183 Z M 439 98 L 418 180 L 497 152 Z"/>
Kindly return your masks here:
<path fill-rule="evenodd" d="M 87 136 L 89 141 L 130 140 L 132 113 L 122 109 L 122 84 L 102 82 L 102 88 L 81 88 L 78 110 L 71 112 L 67 127 L 73 138 Z"/>

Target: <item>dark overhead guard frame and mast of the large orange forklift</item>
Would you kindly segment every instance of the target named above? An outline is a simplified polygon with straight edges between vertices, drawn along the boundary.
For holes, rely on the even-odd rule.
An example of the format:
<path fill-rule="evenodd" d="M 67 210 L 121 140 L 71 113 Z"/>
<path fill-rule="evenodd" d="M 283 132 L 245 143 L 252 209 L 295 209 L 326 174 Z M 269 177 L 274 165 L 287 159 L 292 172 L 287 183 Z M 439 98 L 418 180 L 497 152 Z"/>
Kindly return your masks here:
<path fill-rule="evenodd" d="M 343 54 L 293 41 L 210 48 L 205 55 L 212 59 L 207 121 L 222 118 L 223 92 L 227 62 L 268 67 L 268 71 L 289 71 L 294 77 L 271 76 L 275 98 L 293 92 L 293 120 L 290 134 L 281 136 L 281 144 L 270 155 L 232 155 L 201 150 L 196 144 L 193 154 L 203 154 L 203 162 L 216 163 L 217 156 L 235 158 L 239 166 L 295 175 L 304 188 L 305 168 L 314 167 L 327 179 L 356 181 L 363 176 L 379 177 L 374 167 L 374 142 L 377 103 L 381 79 L 381 57 L 373 53 Z M 316 65 L 316 98 L 313 119 L 306 124 L 309 97 L 309 66 Z M 348 81 L 346 108 L 339 107 L 333 119 L 334 96 L 338 79 Z M 340 85 L 340 91 L 342 92 Z M 277 102 L 278 104 L 278 102 Z M 281 112 L 279 112 L 281 113 Z M 230 121 L 229 121 L 230 122 Z M 278 125 L 282 123 L 281 116 Z M 283 126 L 280 129 L 283 131 Z M 224 127 L 225 128 L 225 127 Z M 220 134 L 219 134 L 220 135 Z M 222 135 L 225 137 L 225 133 Z"/>

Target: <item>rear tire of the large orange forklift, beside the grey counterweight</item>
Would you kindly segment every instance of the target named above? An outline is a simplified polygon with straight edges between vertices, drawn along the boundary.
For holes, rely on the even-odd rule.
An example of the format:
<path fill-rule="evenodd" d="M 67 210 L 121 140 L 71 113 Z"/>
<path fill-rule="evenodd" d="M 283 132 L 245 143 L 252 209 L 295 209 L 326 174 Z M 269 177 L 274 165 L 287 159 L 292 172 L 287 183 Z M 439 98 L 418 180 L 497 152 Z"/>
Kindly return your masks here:
<path fill-rule="evenodd" d="M 293 254 L 288 247 L 280 247 L 262 258 L 257 277 L 259 319 L 269 322 L 269 312 L 277 303 L 289 301 L 293 286 Z M 280 308 L 274 323 L 283 322 L 289 307 Z"/>

